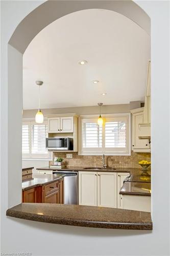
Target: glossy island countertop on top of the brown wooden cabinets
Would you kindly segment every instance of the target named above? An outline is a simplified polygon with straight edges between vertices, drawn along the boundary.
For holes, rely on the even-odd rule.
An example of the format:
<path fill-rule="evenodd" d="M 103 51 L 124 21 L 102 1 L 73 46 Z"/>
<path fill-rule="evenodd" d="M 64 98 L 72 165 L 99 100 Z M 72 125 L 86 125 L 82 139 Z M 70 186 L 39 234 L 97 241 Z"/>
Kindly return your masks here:
<path fill-rule="evenodd" d="M 22 190 L 28 190 L 36 186 L 43 186 L 63 178 L 64 174 L 33 174 L 32 180 L 22 182 Z"/>

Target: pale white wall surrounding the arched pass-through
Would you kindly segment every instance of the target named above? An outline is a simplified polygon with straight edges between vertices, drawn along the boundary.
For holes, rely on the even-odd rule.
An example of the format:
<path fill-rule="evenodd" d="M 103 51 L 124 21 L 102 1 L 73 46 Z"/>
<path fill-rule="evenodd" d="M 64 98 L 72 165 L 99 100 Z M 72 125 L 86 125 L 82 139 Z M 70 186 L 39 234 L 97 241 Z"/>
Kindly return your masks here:
<path fill-rule="evenodd" d="M 20 22 L 31 10 L 36 8 L 41 1 L 5 1 L 3 10 L 3 41 L 2 41 L 2 98 L 1 98 L 1 221 L 2 221 L 2 252 L 32 252 L 33 255 L 169 255 L 169 89 L 168 89 L 168 2 L 141 1 L 139 5 L 150 15 L 152 21 L 152 216 L 153 231 L 135 230 L 107 230 L 96 228 L 83 228 L 47 223 L 32 222 L 6 217 L 8 208 L 8 191 L 12 201 L 9 206 L 20 201 L 20 195 L 14 193 L 12 186 L 18 184 L 12 177 L 20 179 L 21 160 L 16 163 L 15 158 L 21 156 L 15 152 L 9 161 L 15 163 L 8 169 L 8 142 L 10 132 L 13 131 L 12 123 L 19 118 L 18 112 L 21 103 L 21 75 L 18 72 L 21 65 L 20 54 L 15 49 L 10 49 L 11 54 L 7 59 L 8 40 Z M 160 50 L 161 49 L 161 50 Z M 12 61 L 13 54 L 17 56 L 16 65 L 11 74 L 13 81 L 7 83 L 8 61 Z M 158 59 L 157 59 L 158 58 Z M 20 61 L 19 61 L 20 60 Z M 16 78 L 18 80 L 15 80 Z M 8 86 L 15 86 L 13 93 L 9 93 Z M 19 93 L 19 95 L 18 95 Z M 13 97 L 13 99 L 12 99 Z M 16 101 L 13 100 L 16 98 Z M 19 101 L 19 102 L 17 102 Z M 13 105 L 11 103 L 13 102 Z M 157 104 L 159 102 L 159 105 Z M 13 109 L 12 109 L 13 106 Z M 9 112 L 8 111 L 9 108 Z M 8 120 L 11 126 L 8 126 Z M 162 125 L 162 123 L 166 125 Z M 20 131 L 20 123 L 14 124 Z M 8 133 L 7 133 L 8 131 Z M 18 132 L 17 132 L 18 134 Z M 162 134 L 163 136 L 160 136 Z M 9 137 L 8 137 L 9 135 Z M 16 136 L 17 137 L 17 136 Z M 19 137 L 15 138 L 21 147 Z M 12 141 L 11 141 L 12 143 Z M 14 148 L 14 145 L 13 145 Z M 11 175 L 8 184 L 8 176 Z"/>

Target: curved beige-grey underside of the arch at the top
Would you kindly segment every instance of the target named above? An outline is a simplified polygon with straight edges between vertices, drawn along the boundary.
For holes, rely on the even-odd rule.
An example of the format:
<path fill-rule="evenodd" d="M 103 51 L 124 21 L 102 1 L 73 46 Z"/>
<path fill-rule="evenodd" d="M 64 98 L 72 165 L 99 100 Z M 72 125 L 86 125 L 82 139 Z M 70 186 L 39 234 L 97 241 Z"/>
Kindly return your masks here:
<path fill-rule="evenodd" d="M 24 53 L 32 39 L 47 25 L 69 13 L 86 9 L 107 9 L 118 12 L 150 34 L 150 17 L 133 1 L 46 1 L 17 26 L 9 44 Z M 39 20 L 39 22 L 38 22 Z M 27 31 L 27 34 L 26 34 Z M 24 35 L 24 36 L 23 36 Z"/>

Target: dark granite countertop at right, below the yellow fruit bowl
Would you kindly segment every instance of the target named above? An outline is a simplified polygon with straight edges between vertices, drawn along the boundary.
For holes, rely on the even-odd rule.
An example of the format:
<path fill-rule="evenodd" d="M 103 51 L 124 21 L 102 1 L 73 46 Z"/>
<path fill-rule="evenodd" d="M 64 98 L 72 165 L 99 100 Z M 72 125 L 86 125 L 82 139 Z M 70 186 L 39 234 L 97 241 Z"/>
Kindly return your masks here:
<path fill-rule="evenodd" d="M 150 182 L 124 182 L 120 195 L 151 196 Z"/>

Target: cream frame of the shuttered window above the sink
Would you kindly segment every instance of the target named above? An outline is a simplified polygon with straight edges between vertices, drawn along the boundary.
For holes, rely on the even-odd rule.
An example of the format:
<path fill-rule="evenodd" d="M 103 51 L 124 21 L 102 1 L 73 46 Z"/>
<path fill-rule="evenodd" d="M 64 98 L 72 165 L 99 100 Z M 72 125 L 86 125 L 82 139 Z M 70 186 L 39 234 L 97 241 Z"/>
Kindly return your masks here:
<path fill-rule="evenodd" d="M 115 114 L 102 114 L 103 118 L 103 132 L 102 132 L 102 147 L 100 148 L 93 148 L 93 151 L 91 150 L 84 150 L 82 145 L 82 120 L 97 120 L 99 115 L 81 115 L 79 117 L 79 134 L 78 134 L 78 155 L 82 156 L 101 156 L 105 154 L 106 156 L 130 156 L 131 155 L 131 114 L 130 113 L 115 113 Z M 115 147 L 115 151 L 113 151 L 113 147 L 105 147 L 105 122 L 109 119 L 112 120 L 113 118 L 122 118 L 127 120 L 127 146 L 126 146 L 126 152 L 120 152 L 118 151 L 119 148 Z"/>

